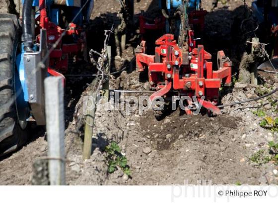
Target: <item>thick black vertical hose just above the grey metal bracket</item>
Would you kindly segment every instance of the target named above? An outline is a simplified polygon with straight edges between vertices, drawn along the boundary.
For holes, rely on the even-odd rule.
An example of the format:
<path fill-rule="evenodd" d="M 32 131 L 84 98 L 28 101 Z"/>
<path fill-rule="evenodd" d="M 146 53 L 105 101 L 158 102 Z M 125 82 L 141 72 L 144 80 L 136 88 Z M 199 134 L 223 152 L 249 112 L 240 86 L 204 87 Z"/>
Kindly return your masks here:
<path fill-rule="evenodd" d="M 22 32 L 25 52 L 33 52 L 32 39 L 32 4 L 33 0 L 24 0 L 22 8 Z"/>

